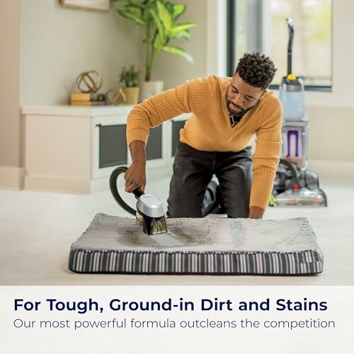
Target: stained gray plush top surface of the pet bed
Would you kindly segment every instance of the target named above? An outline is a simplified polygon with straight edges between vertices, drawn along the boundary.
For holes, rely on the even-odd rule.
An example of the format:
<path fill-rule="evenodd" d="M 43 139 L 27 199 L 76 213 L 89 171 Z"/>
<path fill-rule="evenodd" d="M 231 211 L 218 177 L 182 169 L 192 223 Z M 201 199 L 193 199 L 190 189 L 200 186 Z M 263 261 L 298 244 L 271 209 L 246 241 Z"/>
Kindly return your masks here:
<path fill-rule="evenodd" d="M 72 249 L 112 251 L 319 251 L 307 218 L 167 219 L 169 232 L 147 236 L 134 218 L 97 214 Z"/>

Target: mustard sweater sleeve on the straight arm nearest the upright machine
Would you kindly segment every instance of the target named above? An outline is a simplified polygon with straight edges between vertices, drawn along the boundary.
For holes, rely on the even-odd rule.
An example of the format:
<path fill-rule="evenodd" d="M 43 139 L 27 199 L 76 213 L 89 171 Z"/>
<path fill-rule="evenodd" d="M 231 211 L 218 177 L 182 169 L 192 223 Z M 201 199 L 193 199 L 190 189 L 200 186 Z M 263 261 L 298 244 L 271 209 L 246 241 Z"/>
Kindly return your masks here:
<path fill-rule="evenodd" d="M 256 151 L 253 154 L 253 182 L 250 207 L 266 209 L 273 190 L 275 172 L 282 146 L 282 107 L 276 98 L 264 112 L 264 125 L 256 132 Z"/>

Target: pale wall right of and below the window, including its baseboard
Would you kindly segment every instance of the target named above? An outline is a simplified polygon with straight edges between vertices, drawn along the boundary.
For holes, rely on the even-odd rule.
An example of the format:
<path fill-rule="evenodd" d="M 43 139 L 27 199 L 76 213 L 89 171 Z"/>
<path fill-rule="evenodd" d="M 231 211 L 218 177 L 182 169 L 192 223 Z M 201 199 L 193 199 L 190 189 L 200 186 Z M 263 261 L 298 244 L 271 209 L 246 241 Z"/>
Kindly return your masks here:
<path fill-rule="evenodd" d="M 306 93 L 309 167 L 327 176 L 354 177 L 353 13 L 354 1 L 333 0 L 333 90 Z"/>

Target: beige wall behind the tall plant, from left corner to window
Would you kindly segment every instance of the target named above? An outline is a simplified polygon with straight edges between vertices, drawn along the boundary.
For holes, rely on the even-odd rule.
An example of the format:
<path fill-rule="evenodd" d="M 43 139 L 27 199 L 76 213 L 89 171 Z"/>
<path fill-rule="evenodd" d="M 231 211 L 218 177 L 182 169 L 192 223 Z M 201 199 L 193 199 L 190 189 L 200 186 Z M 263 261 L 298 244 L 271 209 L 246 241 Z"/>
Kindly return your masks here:
<path fill-rule="evenodd" d="M 165 89 L 205 75 L 207 0 L 183 3 L 187 8 L 178 21 L 198 25 L 190 30 L 191 40 L 171 40 L 171 45 L 183 47 L 195 63 L 161 52 L 152 79 L 164 80 Z M 22 0 L 21 13 L 21 105 L 67 103 L 74 78 L 88 69 L 101 72 L 102 91 L 118 85 L 125 64 L 135 64 L 144 78 L 143 31 L 114 11 L 64 8 L 59 0 Z"/>

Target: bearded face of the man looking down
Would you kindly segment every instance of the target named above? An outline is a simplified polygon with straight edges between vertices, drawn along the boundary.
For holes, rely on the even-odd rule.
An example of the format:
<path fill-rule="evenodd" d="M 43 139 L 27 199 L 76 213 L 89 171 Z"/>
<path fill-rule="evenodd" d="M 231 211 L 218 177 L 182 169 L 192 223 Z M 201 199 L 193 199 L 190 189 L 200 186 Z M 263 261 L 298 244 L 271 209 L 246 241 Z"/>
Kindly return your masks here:
<path fill-rule="evenodd" d="M 256 105 L 263 93 L 264 90 L 261 87 L 247 84 L 236 73 L 227 89 L 227 110 L 233 115 L 242 115 Z"/>

